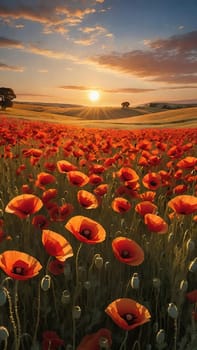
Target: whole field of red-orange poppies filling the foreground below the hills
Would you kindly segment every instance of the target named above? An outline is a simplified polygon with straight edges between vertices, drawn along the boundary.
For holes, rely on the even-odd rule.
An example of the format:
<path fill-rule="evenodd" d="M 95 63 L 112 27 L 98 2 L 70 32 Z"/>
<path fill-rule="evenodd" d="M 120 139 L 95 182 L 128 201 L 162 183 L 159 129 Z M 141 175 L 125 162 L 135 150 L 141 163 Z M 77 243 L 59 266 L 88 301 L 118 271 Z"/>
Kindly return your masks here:
<path fill-rule="evenodd" d="M 197 349 L 197 129 L 0 135 L 0 349 Z"/>

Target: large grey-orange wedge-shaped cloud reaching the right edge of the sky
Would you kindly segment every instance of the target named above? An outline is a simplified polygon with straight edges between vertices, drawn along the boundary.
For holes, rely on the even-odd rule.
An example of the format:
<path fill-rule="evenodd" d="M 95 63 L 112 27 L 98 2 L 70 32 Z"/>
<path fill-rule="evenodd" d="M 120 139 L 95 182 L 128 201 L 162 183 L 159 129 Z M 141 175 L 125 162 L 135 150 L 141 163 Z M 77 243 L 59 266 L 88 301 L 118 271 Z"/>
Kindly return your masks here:
<path fill-rule="evenodd" d="M 91 60 L 98 66 L 155 82 L 196 82 L 197 31 L 148 40 L 145 44 L 147 50 L 112 52 L 94 56 Z"/>

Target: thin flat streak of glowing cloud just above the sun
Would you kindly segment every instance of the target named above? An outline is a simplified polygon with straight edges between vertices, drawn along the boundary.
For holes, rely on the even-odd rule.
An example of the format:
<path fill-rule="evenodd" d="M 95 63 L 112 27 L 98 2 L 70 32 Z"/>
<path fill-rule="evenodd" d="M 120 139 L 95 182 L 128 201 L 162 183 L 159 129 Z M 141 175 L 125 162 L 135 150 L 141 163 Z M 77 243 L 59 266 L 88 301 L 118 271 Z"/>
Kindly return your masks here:
<path fill-rule="evenodd" d="M 142 89 L 142 88 L 117 88 L 117 89 L 103 89 L 98 87 L 90 87 L 90 86 L 81 86 L 81 85 L 63 85 L 59 86 L 65 90 L 79 90 L 79 91 L 89 91 L 89 90 L 99 90 L 107 93 L 141 93 L 141 92 L 149 92 L 155 91 L 155 89 Z"/>

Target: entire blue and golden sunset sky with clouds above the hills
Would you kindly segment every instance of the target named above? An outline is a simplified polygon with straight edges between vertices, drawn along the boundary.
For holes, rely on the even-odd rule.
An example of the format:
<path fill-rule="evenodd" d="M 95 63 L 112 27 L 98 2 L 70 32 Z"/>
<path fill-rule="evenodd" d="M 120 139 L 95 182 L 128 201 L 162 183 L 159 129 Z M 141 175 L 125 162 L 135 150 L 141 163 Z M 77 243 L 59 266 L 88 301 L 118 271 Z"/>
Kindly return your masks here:
<path fill-rule="evenodd" d="M 197 100 L 197 1 L 0 0 L 0 86 L 17 101 Z"/>

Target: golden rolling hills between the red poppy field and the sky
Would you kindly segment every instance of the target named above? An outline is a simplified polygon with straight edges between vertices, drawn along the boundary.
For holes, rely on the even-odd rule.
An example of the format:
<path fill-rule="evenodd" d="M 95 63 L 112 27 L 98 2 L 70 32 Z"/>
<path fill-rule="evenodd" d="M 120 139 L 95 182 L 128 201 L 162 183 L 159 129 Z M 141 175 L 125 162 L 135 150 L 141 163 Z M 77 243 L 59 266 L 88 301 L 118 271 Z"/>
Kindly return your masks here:
<path fill-rule="evenodd" d="M 17 103 L 0 114 L 101 128 L 197 127 L 197 107 L 164 110 L 159 107 L 141 106 L 123 110 L 118 107 L 61 107 Z"/>

